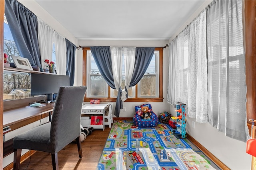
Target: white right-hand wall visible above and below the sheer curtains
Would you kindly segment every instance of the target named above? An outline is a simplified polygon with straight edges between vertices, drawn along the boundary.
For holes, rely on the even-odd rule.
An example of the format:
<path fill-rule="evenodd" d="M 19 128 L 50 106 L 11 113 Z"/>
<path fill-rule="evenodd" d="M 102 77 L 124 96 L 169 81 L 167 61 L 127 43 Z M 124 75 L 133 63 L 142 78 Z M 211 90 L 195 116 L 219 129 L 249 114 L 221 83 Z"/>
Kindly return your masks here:
<path fill-rule="evenodd" d="M 176 33 L 170 38 L 172 41 L 202 10 L 210 4 L 211 0 L 205 3 L 180 27 Z M 176 115 L 175 108 L 170 106 L 172 115 Z M 232 170 L 249 170 L 250 155 L 246 153 L 246 143 L 226 137 L 224 133 L 218 132 L 216 128 L 209 123 L 195 123 L 195 129 L 192 128 L 194 118 L 186 117 L 186 132 L 190 134 L 196 141 L 202 144 L 214 156 L 222 161 Z"/>

